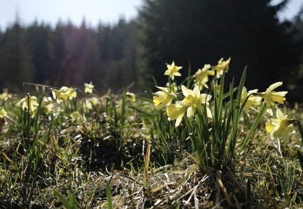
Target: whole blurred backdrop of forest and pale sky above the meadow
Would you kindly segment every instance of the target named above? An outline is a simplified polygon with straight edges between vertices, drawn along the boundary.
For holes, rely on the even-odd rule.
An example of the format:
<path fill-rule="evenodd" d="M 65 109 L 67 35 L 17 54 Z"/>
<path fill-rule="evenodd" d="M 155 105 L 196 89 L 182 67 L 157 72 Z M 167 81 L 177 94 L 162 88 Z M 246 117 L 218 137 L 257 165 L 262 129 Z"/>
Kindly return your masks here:
<path fill-rule="evenodd" d="M 248 89 L 283 81 L 303 100 L 303 0 L 0 0 L 0 91 L 23 83 L 120 93 L 165 85 L 165 63 L 192 72 L 231 57 Z M 283 89 L 283 90 L 284 90 Z"/>

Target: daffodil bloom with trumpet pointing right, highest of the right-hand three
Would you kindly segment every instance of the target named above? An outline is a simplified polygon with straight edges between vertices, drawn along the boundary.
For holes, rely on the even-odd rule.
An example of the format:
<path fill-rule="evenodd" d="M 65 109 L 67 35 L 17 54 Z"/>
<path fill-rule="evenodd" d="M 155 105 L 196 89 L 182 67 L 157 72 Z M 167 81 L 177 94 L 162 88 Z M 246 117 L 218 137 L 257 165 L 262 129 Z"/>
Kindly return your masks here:
<path fill-rule="evenodd" d="M 276 89 L 282 85 L 282 82 L 277 82 L 272 85 L 270 85 L 267 89 L 266 92 L 262 92 L 258 94 L 258 96 L 262 97 L 267 105 L 267 112 L 272 116 L 273 111 L 271 110 L 271 107 L 276 107 L 276 102 L 283 104 L 285 100 L 285 94 L 287 92 L 274 92 L 273 90 Z"/>

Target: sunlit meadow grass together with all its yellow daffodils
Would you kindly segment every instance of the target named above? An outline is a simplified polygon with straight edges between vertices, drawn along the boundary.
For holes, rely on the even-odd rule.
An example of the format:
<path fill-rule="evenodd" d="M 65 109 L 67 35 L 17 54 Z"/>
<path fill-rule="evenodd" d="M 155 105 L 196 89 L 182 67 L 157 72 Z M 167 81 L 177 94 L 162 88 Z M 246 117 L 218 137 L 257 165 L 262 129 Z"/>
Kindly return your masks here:
<path fill-rule="evenodd" d="M 99 95 L 93 83 L 5 90 L 0 205 L 302 206 L 302 107 L 282 105 L 282 83 L 247 91 L 246 70 L 226 84 L 229 63 L 189 69 L 180 84 L 184 67 L 167 64 L 167 86 L 154 95 Z"/>

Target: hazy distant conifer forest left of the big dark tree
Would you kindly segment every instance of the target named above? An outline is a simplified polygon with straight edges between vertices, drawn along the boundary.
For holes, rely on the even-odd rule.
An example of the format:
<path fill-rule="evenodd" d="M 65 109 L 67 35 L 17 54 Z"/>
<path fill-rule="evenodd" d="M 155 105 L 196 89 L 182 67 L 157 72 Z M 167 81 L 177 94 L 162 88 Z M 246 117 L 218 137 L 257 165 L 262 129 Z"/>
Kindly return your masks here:
<path fill-rule="evenodd" d="M 44 23 L 22 27 L 19 21 L 0 33 L 0 87 L 21 91 L 22 84 L 61 87 L 93 81 L 115 92 L 133 85 L 136 72 L 136 24 L 119 20 L 97 29 L 72 23 L 52 28 Z"/>

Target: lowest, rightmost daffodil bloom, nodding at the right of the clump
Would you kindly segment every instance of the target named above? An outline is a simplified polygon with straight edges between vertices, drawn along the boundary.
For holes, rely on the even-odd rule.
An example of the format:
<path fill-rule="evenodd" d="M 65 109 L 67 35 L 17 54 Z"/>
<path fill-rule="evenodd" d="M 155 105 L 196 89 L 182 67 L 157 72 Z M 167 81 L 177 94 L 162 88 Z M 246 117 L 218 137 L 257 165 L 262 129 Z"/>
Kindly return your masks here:
<path fill-rule="evenodd" d="M 266 131 L 270 133 L 271 139 L 282 137 L 284 143 L 288 143 L 289 134 L 295 133 L 295 128 L 291 120 L 287 119 L 287 115 L 283 115 L 282 111 L 277 108 L 277 119 L 271 119 L 266 123 Z"/>

